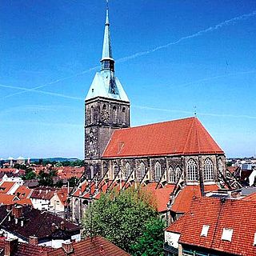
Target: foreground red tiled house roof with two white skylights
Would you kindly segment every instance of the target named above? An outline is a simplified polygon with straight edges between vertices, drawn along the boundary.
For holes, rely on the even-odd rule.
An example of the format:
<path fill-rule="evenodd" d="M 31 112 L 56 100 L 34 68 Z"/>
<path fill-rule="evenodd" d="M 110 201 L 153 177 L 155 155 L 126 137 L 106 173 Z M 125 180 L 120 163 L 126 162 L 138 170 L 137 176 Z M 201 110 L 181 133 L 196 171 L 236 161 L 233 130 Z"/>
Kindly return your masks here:
<path fill-rule="evenodd" d="M 255 202 L 218 198 L 194 198 L 186 214 L 179 242 L 218 250 L 226 254 L 256 255 Z M 202 226 L 209 225 L 206 237 L 201 236 Z M 222 240 L 222 230 L 233 230 L 231 242 Z"/>

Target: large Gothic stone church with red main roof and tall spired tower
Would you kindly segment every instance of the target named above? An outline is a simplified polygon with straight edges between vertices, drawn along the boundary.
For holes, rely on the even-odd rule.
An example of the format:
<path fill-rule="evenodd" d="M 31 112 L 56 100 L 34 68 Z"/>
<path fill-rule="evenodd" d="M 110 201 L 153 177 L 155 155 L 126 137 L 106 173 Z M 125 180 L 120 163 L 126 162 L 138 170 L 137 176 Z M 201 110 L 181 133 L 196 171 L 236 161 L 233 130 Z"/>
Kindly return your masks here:
<path fill-rule="evenodd" d="M 113 188 L 170 186 L 167 196 L 174 200 L 184 186 L 200 186 L 202 193 L 214 184 L 234 188 L 224 151 L 198 118 L 130 127 L 130 101 L 114 71 L 108 7 L 100 62 L 85 99 L 85 172 L 71 191 L 74 221 Z"/>

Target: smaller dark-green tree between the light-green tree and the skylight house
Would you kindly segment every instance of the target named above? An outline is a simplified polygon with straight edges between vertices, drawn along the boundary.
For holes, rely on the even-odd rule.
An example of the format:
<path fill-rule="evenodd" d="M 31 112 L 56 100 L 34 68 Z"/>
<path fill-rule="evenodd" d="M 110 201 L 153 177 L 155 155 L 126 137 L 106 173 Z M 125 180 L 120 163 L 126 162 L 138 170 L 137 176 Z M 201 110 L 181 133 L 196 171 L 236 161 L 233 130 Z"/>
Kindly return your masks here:
<path fill-rule="evenodd" d="M 130 246 L 132 254 L 134 256 L 162 256 L 164 255 L 162 250 L 163 229 L 165 224 L 160 218 L 151 218 L 146 223 L 146 229 L 142 234 L 142 237 L 138 238 L 138 242 L 135 242 Z"/>

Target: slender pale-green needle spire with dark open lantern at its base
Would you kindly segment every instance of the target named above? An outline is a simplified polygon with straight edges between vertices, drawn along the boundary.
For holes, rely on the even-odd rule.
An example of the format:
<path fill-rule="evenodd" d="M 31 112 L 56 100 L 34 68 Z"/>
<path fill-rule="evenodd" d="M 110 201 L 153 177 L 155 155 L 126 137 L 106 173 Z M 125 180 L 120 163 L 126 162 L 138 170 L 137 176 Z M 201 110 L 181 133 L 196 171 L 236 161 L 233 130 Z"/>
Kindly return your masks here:
<path fill-rule="evenodd" d="M 112 57 L 112 49 L 111 49 L 111 42 L 110 42 L 110 21 L 109 21 L 108 1 L 106 1 L 106 22 L 105 22 L 101 62 L 102 62 L 102 70 L 114 71 L 114 59 Z"/>

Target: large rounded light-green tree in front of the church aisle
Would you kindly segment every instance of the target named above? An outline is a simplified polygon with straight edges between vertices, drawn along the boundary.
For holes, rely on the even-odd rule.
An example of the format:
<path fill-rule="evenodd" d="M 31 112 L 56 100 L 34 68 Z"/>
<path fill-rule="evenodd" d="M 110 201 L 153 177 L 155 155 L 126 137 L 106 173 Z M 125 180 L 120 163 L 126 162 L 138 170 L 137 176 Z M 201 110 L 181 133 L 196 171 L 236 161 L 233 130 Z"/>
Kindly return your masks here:
<path fill-rule="evenodd" d="M 86 236 L 101 235 L 123 250 L 132 252 L 135 250 L 132 245 L 146 235 L 149 221 L 157 222 L 159 218 L 150 195 L 130 188 L 102 194 L 86 210 L 83 226 Z M 160 247 L 162 250 L 162 244 Z"/>

